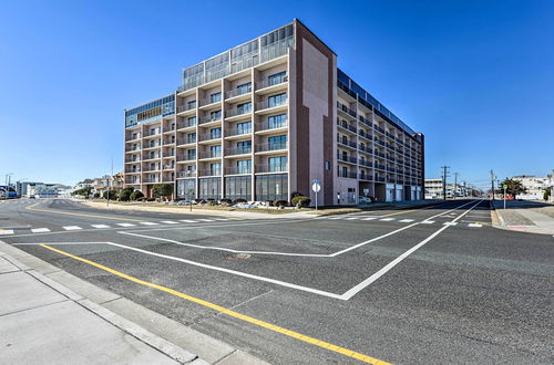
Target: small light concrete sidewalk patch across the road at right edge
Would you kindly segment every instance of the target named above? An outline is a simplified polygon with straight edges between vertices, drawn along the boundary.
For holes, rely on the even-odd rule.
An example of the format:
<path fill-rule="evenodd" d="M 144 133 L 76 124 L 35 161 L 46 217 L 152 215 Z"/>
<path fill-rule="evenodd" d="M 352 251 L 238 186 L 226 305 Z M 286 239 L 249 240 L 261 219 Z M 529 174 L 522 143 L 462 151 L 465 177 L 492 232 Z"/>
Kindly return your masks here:
<path fill-rule="evenodd" d="M 533 201 L 495 200 L 493 207 L 500 220 L 496 228 L 514 231 L 554 234 L 554 206 Z"/>

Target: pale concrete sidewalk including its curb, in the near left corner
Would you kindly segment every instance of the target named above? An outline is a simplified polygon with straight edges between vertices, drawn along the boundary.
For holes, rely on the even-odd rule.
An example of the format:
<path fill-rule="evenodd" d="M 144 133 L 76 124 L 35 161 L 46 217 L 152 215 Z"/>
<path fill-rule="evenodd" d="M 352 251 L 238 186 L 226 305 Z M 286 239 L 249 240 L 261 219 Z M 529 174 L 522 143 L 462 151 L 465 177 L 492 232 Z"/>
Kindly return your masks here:
<path fill-rule="evenodd" d="M 267 364 L 2 241 L 0 328 L 2 364 Z"/>

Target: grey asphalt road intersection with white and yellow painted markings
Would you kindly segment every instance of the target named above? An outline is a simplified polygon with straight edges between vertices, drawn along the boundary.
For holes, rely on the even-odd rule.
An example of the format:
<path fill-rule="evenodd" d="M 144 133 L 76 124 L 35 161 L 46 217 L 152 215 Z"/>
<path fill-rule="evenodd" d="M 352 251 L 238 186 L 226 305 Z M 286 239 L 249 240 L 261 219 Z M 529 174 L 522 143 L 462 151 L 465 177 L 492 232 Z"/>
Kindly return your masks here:
<path fill-rule="evenodd" d="M 554 238 L 492 228 L 488 200 L 267 220 L 19 200 L 0 228 L 274 364 L 554 363 Z"/>

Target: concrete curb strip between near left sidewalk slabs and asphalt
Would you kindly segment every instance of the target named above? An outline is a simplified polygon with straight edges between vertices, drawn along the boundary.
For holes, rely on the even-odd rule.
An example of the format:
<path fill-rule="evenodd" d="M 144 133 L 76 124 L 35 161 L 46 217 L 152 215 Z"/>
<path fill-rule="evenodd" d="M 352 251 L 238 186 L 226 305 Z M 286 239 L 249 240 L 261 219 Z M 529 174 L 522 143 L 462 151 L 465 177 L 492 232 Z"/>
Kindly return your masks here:
<path fill-rule="evenodd" d="M 73 301 L 75 304 L 94 313 L 113 326 L 122 330 L 123 332 L 130 334 L 136 340 L 147 344 L 148 346 L 155 348 L 156 351 L 163 353 L 164 355 L 173 358 L 181 364 L 239 364 L 240 362 L 236 362 L 239 359 L 247 359 L 248 364 L 267 364 L 219 340 L 209 337 L 204 333 L 197 332 L 186 325 L 165 317 L 157 312 L 153 312 L 146 307 L 143 307 L 142 305 L 132 302 L 121 295 L 109 292 L 107 290 L 99 288 L 79 277 L 72 275 L 69 272 L 63 271 L 58 267 L 53 267 L 47 261 L 43 261 L 1 240 L 0 255 L 19 268 L 21 271 L 32 275 L 38 281 L 52 288 L 60 294 Z M 23 263 L 20 260 L 24 260 L 27 261 L 27 263 Z M 53 269 L 51 268 L 55 268 L 58 270 L 53 271 Z M 41 273 L 40 271 L 43 271 L 43 273 Z M 60 283 L 55 279 L 51 278 L 51 275 L 59 278 L 60 274 L 63 274 L 63 277 L 65 278 L 64 281 L 71 282 L 71 284 L 69 284 L 70 288 L 66 286 L 68 283 Z M 78 288 L 80 283 L 85 284 L 86 288 L 79 288 L 75 290 L 81 290 L 82 292 L 86 292 L 86 294 L 79 294 L 73 290 L 73 288 Z M 115 312 L 113 310 L 115 310 Z M 129 319 L 129 316 L 133 319 Z M 137 317 L 142 320 L 138 321 L 141 322 L 141 324 L 138 324 L 135 320 Z M 144 324 L 146 324 L 146 327 L 144 326 Z M 172 334 L 176 333 L 176 336 L 179 337 L 177 338 L 178 342 L 185 342 L 187 345 L 195 347 L 201 353 L 203 353 L 202 357 L 209 358 L 209 362 L 201 358 L 198 355 L 192 352 L 184 350 L 182 346 L 176 345 L 174 342 L 165 340 L 163 336 L 148 330 L 148 326 L 151 326 L 151 328 L 154 331 L 158 330 L 162 332 L 164 332 L 165 328 L 168 328 L 167 331 L 170 334 L 167 335 L 167 337 L 172 337 Z M 183 340 L 181 337 L 186 338 Z"/>

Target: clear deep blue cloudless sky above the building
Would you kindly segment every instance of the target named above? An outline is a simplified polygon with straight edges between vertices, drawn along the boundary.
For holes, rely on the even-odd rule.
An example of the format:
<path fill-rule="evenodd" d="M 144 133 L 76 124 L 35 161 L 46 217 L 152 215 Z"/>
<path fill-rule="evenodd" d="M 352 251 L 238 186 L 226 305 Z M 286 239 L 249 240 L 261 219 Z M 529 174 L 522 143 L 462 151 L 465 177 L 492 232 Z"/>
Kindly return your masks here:
<path fill-rule="evenodd" d="M 554 1 L 2 1 L 0 184 L 122 169 L 124 108 L 294 18 L 425 134 L 427 177 L 554 168 Z"/>

